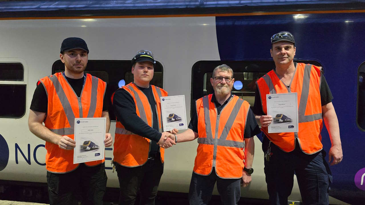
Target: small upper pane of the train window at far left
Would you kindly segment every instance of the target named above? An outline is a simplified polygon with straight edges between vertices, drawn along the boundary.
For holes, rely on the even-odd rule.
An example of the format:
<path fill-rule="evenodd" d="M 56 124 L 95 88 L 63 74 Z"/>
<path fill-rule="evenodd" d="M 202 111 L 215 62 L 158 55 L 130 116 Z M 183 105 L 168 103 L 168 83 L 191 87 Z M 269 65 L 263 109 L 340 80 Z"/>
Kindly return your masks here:
<path fill-rule="evenodd" d="M 22 63 L 0 63 L 0 81 L 23 81 Z"/>

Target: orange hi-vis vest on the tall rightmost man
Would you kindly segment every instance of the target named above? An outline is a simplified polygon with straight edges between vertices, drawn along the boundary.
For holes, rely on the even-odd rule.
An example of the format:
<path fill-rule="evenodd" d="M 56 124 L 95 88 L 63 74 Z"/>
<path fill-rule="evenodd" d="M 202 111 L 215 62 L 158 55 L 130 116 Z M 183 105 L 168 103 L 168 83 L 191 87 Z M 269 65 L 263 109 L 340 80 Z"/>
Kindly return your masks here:
<path fill-rule="evenodd" d="M 295 149 L 295 139 L 298 139 L 301 150 L 307 154 L 322 150 L 320 75 L 321 67 L 297 63 L 289 88 L 274 70 L 256 82 L 265 115 L 267 115 L 266 94 L 297 92 L 299 132 L 268 133 L 268 127 L 261 128 L 269 140 L 285 152 Z"/>

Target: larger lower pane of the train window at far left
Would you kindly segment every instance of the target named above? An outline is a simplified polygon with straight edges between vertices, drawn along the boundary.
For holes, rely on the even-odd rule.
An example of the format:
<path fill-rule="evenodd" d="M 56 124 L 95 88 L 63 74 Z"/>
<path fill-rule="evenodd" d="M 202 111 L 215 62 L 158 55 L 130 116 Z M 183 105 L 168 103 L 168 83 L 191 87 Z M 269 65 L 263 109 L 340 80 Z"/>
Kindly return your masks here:
<path fill-rule="evenodd" d="M 27 85 L 0 84 L 0 117 L 19 119 L 26 111 Z"/>

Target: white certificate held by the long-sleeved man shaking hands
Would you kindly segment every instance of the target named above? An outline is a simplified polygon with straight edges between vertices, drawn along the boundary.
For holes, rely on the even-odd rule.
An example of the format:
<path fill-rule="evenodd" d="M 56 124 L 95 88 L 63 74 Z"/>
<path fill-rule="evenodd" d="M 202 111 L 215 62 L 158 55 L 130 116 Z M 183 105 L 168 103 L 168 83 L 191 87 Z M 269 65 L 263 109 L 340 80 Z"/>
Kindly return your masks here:
<path fill-rule="evenodd" d="M 160 100 L 164 132 L 173 128 L 187 129 L 185 96 L 166 96 Z"/>

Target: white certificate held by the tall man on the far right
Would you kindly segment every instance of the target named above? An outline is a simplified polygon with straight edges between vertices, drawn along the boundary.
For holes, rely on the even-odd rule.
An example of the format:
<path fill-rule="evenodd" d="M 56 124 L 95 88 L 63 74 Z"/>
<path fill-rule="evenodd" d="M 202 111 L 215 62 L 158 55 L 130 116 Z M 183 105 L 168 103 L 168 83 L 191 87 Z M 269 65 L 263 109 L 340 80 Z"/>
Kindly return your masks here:
<path fill-rule="evenodd" d="M 267 94 L 266 107 L 273 121 L 268 127 L 269 133 L 298 132 L 298 96 L 297 93 Z"/>

